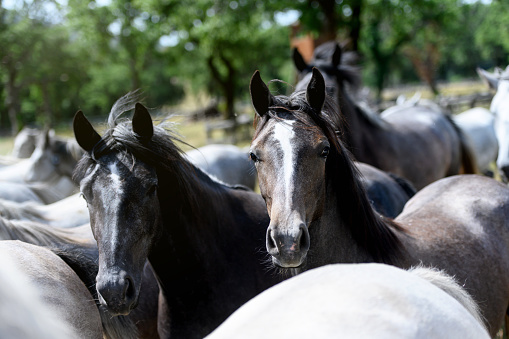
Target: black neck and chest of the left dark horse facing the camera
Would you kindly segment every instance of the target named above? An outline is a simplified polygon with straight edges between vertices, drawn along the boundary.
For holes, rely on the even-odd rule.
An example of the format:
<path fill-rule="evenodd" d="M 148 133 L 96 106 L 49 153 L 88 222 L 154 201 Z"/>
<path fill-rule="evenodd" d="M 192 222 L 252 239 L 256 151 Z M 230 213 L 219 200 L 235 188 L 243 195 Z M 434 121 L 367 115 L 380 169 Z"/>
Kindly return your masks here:
<path fill-rule="evenodd" d="M 179 196 L 182 178 L 165 178 L 159 183 L 162 234 L 149 261 L 169 308 L 171 335 L 203 337 L 242 302 L 274 283 L 268 275 L 260 279 L 262 257 L 249 255 L 262 247 L 254 244 L 263 239 L 268 217 L 265 225 L 246 218 L 239 211 L 249 210 L 249 205 L 199 170 L 186 177 L 199 210 Z M 260 224 L 261 232 L 251 236 L 254 224 Z"/>

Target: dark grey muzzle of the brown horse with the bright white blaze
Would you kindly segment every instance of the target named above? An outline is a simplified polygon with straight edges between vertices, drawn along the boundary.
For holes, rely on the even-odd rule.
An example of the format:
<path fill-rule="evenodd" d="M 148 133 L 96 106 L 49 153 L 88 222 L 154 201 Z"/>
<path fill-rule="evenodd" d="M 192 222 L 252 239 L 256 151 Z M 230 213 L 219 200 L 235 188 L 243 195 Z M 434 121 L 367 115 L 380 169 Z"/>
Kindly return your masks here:
<path fill-rule="evenodd" d="M 304 224 L 300 224 L 294 232 L 269 226 L 266 243 L 267 252 L 275 259 L 276 264 L 296 267 L 302 264 L 309 250 L 309 232 Z"/>

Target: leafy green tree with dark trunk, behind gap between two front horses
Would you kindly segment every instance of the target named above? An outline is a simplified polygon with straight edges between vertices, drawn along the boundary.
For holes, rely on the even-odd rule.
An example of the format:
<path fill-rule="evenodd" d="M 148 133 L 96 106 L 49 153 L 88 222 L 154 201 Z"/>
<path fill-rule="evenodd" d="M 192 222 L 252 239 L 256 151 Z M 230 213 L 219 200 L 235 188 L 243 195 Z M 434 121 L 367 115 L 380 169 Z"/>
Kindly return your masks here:
<path fill-rule="evenodd" d="M 263 2 L 201 0 L 159 5 L 154 3 L 152 8 L 165 16 L 171 27 L 167 34 L 178 34 L 173 48 L 182 52 L 180 75 L 221 93 L 228 119 L 234 118 L 235 99 L 247 93 L 249 78 L 258 67 L 272 65 L 265 66 L 264 73 L 274 74 L 289 60 L 288 31 L 274 22 Z"/>

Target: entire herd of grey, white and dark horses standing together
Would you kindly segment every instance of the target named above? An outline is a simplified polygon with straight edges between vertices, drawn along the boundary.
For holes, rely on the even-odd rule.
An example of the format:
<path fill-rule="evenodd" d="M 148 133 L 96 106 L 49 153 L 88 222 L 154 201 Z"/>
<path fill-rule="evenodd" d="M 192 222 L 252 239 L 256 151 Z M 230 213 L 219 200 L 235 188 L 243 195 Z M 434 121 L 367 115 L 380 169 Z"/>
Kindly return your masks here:
<path fill-rule="evenodd" d="M 81 111 L 75 139 L 20 133 L 0 159 L 0 336 L 494 337 L 509 188 L 477 173 L 509 177 L 509 68 L 478 70 L 489 111 L 375 114 L 337 43 L 293 58 L 292 94 L 251 79 L 247 151 L 183 152 L 138 92 L 102 135 Z"/>

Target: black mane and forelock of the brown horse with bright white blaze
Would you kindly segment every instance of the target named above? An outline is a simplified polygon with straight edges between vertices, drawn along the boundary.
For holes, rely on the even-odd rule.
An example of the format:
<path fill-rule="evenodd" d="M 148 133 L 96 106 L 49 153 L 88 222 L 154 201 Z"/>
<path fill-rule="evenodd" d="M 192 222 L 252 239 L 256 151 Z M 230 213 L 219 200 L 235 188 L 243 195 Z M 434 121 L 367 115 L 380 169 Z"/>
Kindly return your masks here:
<path fill-rule="evenodd" d="M 376 262 L 391 264 L 403 250 L 396 233 L 404 232 L 404 229 L 393 220 L 377 215 L 371 207 L 360 180 L 361 174 L 341 142 L 345 126 L 338 125 L 341 123 L 339 114 L 328 112 L 335 107 L 333 100 L 326 96 L 323 111 L 315 112 L 305 99 L 305 91 L 295 92 L 290 97 L 276 96 L 269 112 L 256 119 L 255 138 L 270 118 L 280 119 L 277 113 L 282 110 L 309 127 L 312 127 L 311 118 L 331 144 L 325 177 L 334 192 L 341 192 L 337 194 L 337 209 L 345 227 Z"/>

